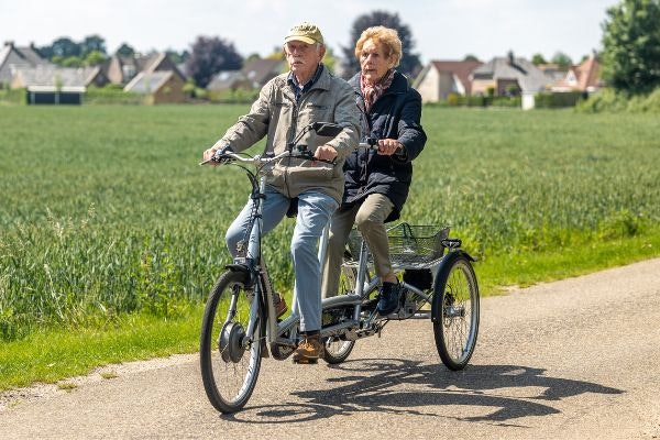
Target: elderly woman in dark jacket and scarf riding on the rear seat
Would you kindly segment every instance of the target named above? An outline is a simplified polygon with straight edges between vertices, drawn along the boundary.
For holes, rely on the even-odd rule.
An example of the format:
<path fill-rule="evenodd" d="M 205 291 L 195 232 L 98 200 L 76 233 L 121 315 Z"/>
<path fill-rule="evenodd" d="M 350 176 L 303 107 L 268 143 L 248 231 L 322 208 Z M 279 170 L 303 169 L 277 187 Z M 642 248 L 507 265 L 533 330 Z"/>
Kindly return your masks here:
<path fill-rule="evenodd" d="M 382 280 L 378 312 L 389 315 L 398 307 L 402 288 L 392 271 L 385 223 L 400 216 L 413 178 L 411 162 L 427 138 L 420 125 L 421 97 L 395 69 L 402 58 L 397 32 L 366 29 L 355 44 L 355 56 L 361 72 L 349 82 L 360 96 L 362 133 L 378 142 L 377 150 L 359 148 L 344 164 L 344 194 L 332 217 L 322 293 L 337 295 L 343 250 L 355 223 Z"/>

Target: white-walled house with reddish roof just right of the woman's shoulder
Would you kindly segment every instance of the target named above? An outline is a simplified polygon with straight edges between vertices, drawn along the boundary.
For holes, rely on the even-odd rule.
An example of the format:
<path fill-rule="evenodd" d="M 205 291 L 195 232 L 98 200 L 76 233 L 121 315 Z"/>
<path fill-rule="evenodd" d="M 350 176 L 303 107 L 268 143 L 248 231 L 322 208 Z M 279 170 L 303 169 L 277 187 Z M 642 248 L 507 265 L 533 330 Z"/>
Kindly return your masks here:
<path fill-rule="evenodd" d="M 470 74 L 483 63 L 477 61 L 431 61 L 419 73 L 413 87 L 422 102 L 446 100 L 450 94 L 471 95 Z"/>

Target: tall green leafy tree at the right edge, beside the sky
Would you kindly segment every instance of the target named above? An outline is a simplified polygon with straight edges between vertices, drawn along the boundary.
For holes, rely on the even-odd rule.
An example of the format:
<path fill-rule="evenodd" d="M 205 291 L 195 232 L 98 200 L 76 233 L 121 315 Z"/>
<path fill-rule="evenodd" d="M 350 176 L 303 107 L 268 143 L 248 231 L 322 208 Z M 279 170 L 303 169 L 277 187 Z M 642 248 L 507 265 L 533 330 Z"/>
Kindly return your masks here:
<path fill-rule="evenodd" d="M 660 0 L 623 0 L 607 10 L 603 78 L 617 91 L 646 94 L 660 86 Z"/>

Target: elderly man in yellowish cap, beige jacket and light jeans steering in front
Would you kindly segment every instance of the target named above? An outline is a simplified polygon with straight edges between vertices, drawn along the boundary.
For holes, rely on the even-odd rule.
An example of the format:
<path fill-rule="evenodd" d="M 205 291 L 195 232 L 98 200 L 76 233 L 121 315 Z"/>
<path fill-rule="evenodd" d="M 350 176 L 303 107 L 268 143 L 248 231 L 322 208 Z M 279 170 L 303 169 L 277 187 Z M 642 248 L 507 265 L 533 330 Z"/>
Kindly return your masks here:
<path fill-rule="evenodd" d="M 353 89 L 333 77 L 321 61 L 326 54 L 323 36 L 311 23 L 292 28 L 284 40 L 288 74 L 273 78 L 261 90 L 250 113 L 239 119 L 216 144 L 205 151 L 209 160 L 218 150 L 242 151 L 267 135 L 266 151 L 279 154 L 294 136 L 314 122 L 334 122 L 343 128 L 336 138 L 308 133 L 300 144 L 307 145 L 323 162 L 284 158 L 275 164 L 267 178 L 263 201 L 264 232 L 284 218 L 293 199 L 298 200 L 298 215 L 292 240 L 295 292 L 300 310 L 301 341 L 294 352 L 295 363 L 316 363 L 322 355 L 321 275 L 317 244 L 324 226 L 341 202 L 345 157 L 356 148 L 360 139 L 360 114 Z M 237 244 L 245 234 L 252 201 L 243 208 L 227 231 L 227 245 L 237 255 Z"/>

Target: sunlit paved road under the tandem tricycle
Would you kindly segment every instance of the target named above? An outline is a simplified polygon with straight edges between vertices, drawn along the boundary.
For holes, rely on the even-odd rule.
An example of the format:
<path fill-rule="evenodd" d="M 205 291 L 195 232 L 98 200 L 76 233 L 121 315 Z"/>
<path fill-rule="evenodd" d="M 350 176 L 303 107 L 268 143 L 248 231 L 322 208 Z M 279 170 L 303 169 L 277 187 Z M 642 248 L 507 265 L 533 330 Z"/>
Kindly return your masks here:
<path fill-rule="evenodd" d="M 427 321 L 387 326 L 338 367 L 266 360 L 231 417 L 197 355 L 105 371 L 0 396 L 0 439 L 659 439 L 660 258 L 483 299 L 463 372 L 440 364 Z"/>

